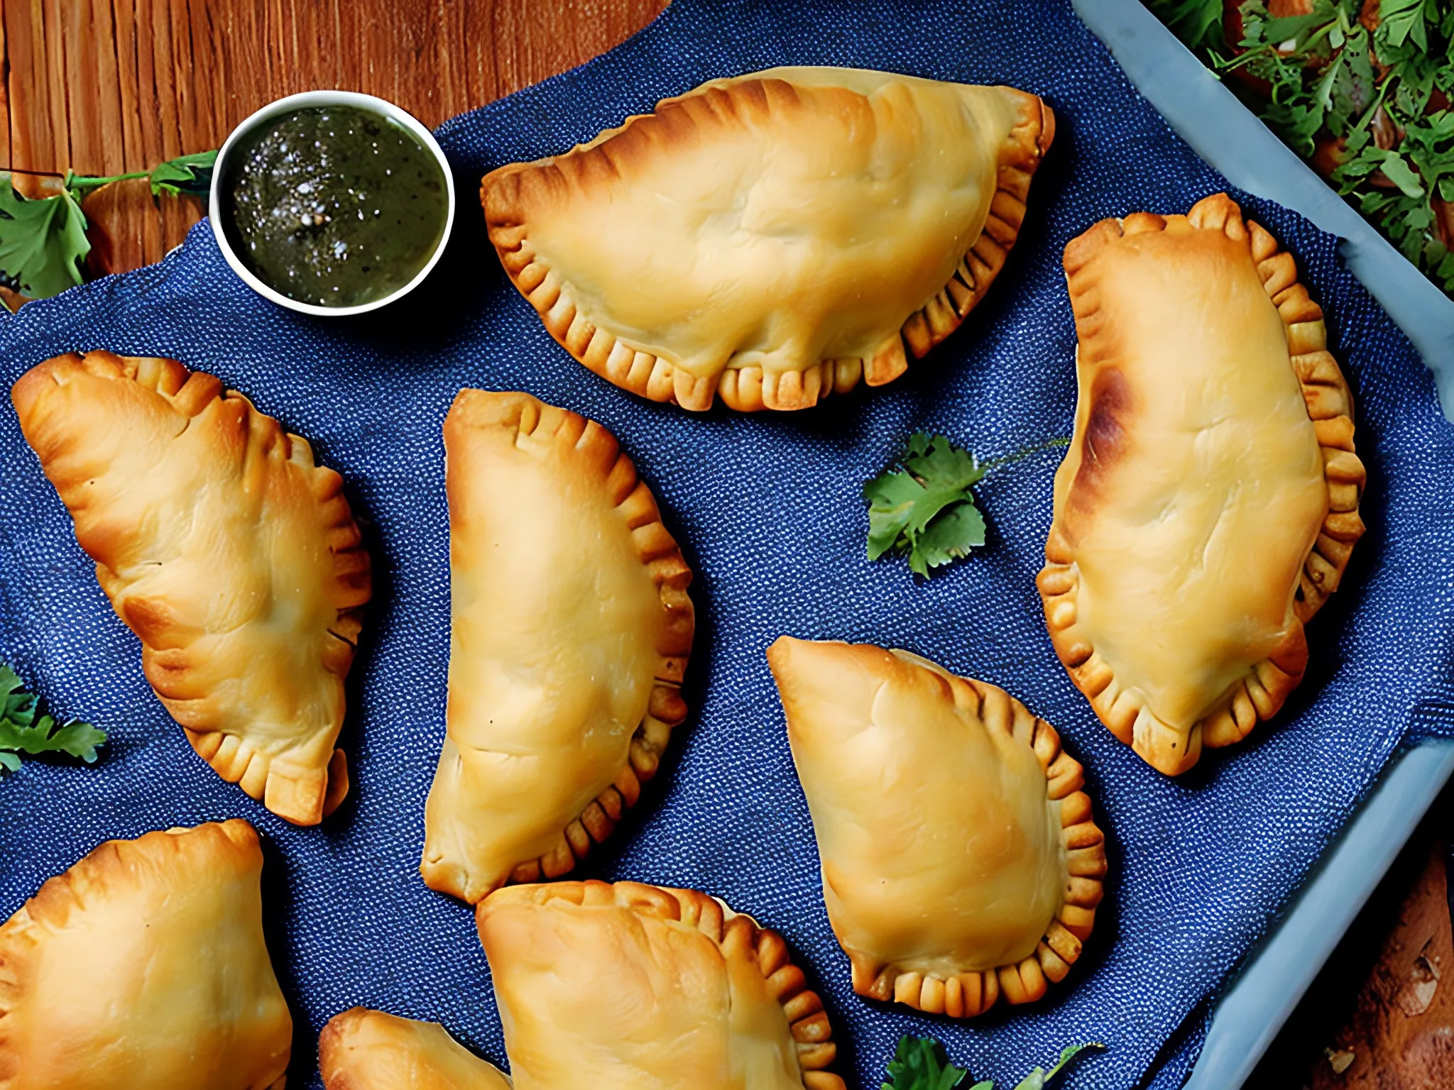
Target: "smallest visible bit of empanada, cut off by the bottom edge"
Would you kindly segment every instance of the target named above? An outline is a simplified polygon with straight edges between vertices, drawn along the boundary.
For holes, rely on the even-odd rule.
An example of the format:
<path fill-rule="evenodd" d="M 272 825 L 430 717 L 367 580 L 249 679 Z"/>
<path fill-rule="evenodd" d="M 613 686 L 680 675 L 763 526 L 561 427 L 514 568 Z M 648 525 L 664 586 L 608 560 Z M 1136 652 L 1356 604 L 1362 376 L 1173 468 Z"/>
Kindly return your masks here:
<path fill-rule="evenodd" d="M 474 1055 L 438 1022 L 353 1007 L 318 1035 L 326 1090 L 510 1090 L 494 1064 Z"/>

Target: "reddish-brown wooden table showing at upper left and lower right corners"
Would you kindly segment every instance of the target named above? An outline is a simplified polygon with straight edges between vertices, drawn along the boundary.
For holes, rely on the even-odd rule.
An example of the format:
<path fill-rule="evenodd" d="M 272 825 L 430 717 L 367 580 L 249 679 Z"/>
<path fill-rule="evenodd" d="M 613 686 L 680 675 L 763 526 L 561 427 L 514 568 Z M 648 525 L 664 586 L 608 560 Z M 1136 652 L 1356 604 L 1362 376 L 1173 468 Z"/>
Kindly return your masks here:
<path fill-rule="evenodd" d="M 0 71 L 7 73 L 0 166 L 79 174 L 148 170 L 220 147 L 259 106 L 318 87 L 378 94 L 435 126 L 590 60 L 663 6 L 0 0 Z M 202 208 L 154 202 L 141 180 L 99 190 L 86 212 L 96 246 L 92 272 L 102 273 L 160 260 Z M 1445 792 L 1437 810 L 1454 811 L 1454 794 Z M 1410 846 L 1409 862 L 1384 884 L 1249 1087 L 1454 1087 L 1454 1001 L 1439 994 L 1437 980 L 1428 982 L 1429 971 L 1437 978 L 1454 964 L 1442 868 L 1448 830 L 1444 823 Z M 1426 1010 L 1410 1013 L 1410 987 L 1428 993 Z M 1349 1065 L 1335 1071 L 1329 1057 Z"/>

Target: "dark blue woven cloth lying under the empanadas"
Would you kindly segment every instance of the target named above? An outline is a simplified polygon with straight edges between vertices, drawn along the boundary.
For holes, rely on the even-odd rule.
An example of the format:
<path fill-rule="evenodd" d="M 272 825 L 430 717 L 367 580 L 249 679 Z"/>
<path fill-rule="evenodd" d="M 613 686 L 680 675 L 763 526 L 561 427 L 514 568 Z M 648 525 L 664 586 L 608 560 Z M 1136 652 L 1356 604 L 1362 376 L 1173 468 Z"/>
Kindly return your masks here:
<path fill-rule="evenodd" d="M 888 68 L 1045 96 L 1059 135 L 1019 244 L 965 327 L 891 387 L 753 417 L 691 416 L 624 394 L 567 358 L 506 282 L 473 202 L 478 176 L 563 151 L 702 80 L 775 64 Z M 377 580 L 342 740 L 353 794 L 321 828 L 292 828 L 222 783 L 151 695 L 135 637 L 96 586 L 13 411 L 0 407 L 0 658 L 58 714 L 112 735 L 96 767 L 31 763 L 0 780 L 0 917 L 103 839 L 246 817 L 269 846 L 269 939 L 297 1023 L 292 1086 L 318 1084 L 316 1035 L 355 1004 L 436 1019 L 503 1061 L 471 913 L 426 889 L 416 868 L 445 731 L 441 421 L 461 387 L 518 388 L 621 439 L 696 571 L 694 714 L 635 815 L 580 873 L 696 887 L 779 929 L 824 994 L 851 1084 L 875 1090 L 897 1036 L 917 1032 L 942 1038 L 1002 1090 L 1080 1041 L 1106 1051 L 1079 1061 L 1066 1087 L 1178 1086 L 1208 997 L 1400 740 L 1410 728 L 1454 731 L 1454 432 L 1428 372 L 1342 269 L 1333 240 L 1246 201 L 1329 312 L 1358 397 L 1368 533 L 1312 625 L 1313 661 L 1284 714 L 1170 780 L 1095 719 L 1045 635 L 1034 576 L 1056 455 L 984 481 L 986 548 L 933 580 L 864 555 L 859 488 L 910 432 L 944 432 L 986 458 L 1069 435 L 1066 241 L 1104 217 L 1185 211 L 1224 187 L 1063 0 L 679 0 L 614 52 L 439 135 L 462 195 L 455 238 L 429 285 L 382 312 L 314 320 L 278 310 L 227 269 L 201 225 L 160 266 L 0 320 L 6 387 L 55 353 L 105 347 L 174 356 L 246 392 L 343 472 Z M 784 632 L 904 647 L 1002 685 L 1085 763 L 1108 833 L 1108 897 L 1080 964 L 1043 1003 L 955 1025 L 851 993 L 763 658 Z"/>

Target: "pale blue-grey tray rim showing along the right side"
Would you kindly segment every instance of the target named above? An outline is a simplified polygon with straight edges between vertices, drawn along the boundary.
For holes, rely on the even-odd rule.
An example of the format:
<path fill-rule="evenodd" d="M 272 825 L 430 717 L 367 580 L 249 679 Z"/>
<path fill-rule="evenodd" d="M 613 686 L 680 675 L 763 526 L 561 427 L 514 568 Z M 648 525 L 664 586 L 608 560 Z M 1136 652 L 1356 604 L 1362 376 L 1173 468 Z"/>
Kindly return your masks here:
<path fill-rule="evenodd" d="M 1232 185 L 1339 235 L 1352 273 L 1434 372 L 1454 420 L 1454 302 L 1274 137 L 1138 0 L 1073 0 L 1136 89 Z M 1454 773 L 1454 741 L 1397 757 L 1266 939 L 1223 988 L 1186 1090 L 1242 1086 Z"/>

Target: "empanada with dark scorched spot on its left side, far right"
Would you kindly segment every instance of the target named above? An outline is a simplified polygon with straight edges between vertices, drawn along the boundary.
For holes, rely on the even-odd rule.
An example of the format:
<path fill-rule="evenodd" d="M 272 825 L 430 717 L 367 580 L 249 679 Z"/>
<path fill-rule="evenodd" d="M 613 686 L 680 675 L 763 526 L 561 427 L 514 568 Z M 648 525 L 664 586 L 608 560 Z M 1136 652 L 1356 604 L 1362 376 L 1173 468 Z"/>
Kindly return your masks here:
<path fill-rule="evenodd" d="M 1185 772 L 1271 718 L 1338 589 L 1365 474 L 1293 256 L 1224 193 L 1064 254 L 1080 337 L 1040 594 L 1101 721 Z"/>

